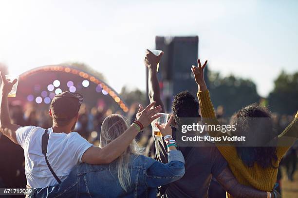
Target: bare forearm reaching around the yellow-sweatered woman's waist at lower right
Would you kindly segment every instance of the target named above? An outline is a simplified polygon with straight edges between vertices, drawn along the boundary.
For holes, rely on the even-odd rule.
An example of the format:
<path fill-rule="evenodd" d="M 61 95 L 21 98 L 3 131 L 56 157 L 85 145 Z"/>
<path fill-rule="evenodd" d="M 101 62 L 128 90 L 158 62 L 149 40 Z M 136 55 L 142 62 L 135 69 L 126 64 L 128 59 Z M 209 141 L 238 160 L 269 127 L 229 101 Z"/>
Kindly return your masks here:
<path fill-rule="evenodd" d="M 216 177 L 223 189 L 235 198 L 267 198 L 267 192 L 240 184 L 227 167 Z M 272 192 L 271 198 L 274 198 Z"/>

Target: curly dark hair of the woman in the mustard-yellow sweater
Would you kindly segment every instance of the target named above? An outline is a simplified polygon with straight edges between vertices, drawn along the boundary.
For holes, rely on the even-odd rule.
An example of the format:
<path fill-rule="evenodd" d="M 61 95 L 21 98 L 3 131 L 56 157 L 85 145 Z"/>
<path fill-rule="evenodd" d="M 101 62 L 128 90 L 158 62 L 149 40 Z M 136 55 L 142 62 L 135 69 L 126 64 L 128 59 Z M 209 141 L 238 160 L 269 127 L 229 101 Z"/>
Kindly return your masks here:
<path fill-rule="evenodd" d="M 249 124 L 249 122 L 238 122 L 236 133 L 243 132 L 243 129 L 245 132 L 248 131 L 256 131 L 256 125 L 257 127 L 261 127 L 261 131 L 263 134 L 258 134 L 258 137 L 262 135 L 270 136 L 273 134 L 273 124 L 272 124 L 272 117 L 269 112 L 269 110 L 263 106 L 260 106 L 258 103 L 250 104 L 241 110 L 239 110 L 234 116 L 234 120 L 237 118 L 243 118 L 243 117 L 267 117 L 270 119 L 266 119 L 267 122 L 264 122 L 261 119 L 255 119 L 253 124 Z M 238 119 L 241 120 L 241 119 Z M 247 119 L 244 119 L 247 120 Z M 246 126 L 243 126 L 246 125 Z M 259 130 L 258 130 L 259 131 Z M 268 138 L 268 137 L 267 137 Z M 270 137 L 271 138 L 271 137 Z M 252 167 L 254 163 L 256 162 L 258 165 L 260 165 L 262 168 L 266 167 L 274 167 L 273 162 L 276 162 L 278 160 L 277 157 L 277 150 L 276 147 L 236 147 L 238 156 L 242 159 L 242 162 L 247 165 L 248 167 Z"/>

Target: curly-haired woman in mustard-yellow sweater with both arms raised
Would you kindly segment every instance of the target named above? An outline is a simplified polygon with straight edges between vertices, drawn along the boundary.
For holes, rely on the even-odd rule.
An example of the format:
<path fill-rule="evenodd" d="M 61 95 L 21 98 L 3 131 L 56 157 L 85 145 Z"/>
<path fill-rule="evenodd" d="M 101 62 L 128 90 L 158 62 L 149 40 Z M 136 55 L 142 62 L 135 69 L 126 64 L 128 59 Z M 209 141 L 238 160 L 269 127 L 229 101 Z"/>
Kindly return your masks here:
<path fill-rule="evenodd" d="M 219 122 L 216 119 L 209 91 L 204 80 L 203 70 L 206 63 L 207 61 L 202 66 L 200 60 L 198 60 L 198 66 L 192 66 L 191 70 L 198 84 L 199 91 L 197 95 L 202 116 L 205 118 L 208 125 L 218 125 Z M 238 125 L 236 125 L 236 130 L 232 135 L 237 134 L 239 136 L 246 132 L 248 138 L 248 143 L 246 144 L 250 144 L 248 145 L 250 147 L 247 147 L 247 145 L 244 147 L 234 147 L 231 145 L 224 146 L 217 144 L 217 148 L 220 150 L 234 176 L 241 184 L 267 191 L 267 197 L 271 197 L 269 192 L 273 190 L 276 184 L 280 160 L 290 148 L 291 144 L 297 140 L 297 117 L 298 113 L 292 123 L 281 134 L 274 138 L 271 114 L 266 108 L 257 104 L 251 104 L 242 108 L 234 115 L 232 123 L 238 122 Z M 256 134 L 256 131 L 260 132 L 257 137 L 252 135 Z M 208 131 L 208 133 L 213 137 L 223 136 L 222 132 Z M 276 140 L 278 145 L 274 146 L 271 142 L 267 147 L 258 147 L 266 140 Z M 227 198 L 231 197 L 232 196 L 227 193 Z"/>

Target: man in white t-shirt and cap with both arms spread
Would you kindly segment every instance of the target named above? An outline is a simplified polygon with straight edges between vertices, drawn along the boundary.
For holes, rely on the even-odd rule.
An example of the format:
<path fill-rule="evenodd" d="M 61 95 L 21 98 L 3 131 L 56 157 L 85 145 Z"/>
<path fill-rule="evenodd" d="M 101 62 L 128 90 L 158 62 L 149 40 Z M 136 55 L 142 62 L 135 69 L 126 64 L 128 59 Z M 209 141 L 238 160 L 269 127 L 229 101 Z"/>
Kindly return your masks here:
<path fill-rule="evenodd" d="M 136 124 L 131 125 L 117 139 L 113 140 L 104 148 L 94 147 L 77 132 L 72 132 L 78 119 L 78 111 L 82 102 L 82 96 L 70 92 L 56 95 L 49 110 L 53 118 L 53 126 L 43 129 L 36 126 L 25 126 L 11 124 L 7 95 L 12 86 L 17 82 L 8 82 L 4 75 L 0 87 L 0 130 L 14 143 L 24 149 L 25 173 L 27 186 L 33 188 L 55 185 L 58 180 L 63 181 L 71 169 L 80 162 L 88 164 L 109 164 L 119 157 L 130 142 L 144 126 L 148 126 L 154 119 L 159 117 L 156 113 L 161 111 L 161 106 L 152 108 L 155 102 L 149 104 L 145 109 L 140 105 L 136 115 Z M 143 125 L 141 127 L 141 125 Z M 47 159 L 54 174 L 50 171 L 42 153 L 41 140 L 43 134 L 49 134 L 47 145 Z M 11 153 L 14 155 L 14 153 Z"/>

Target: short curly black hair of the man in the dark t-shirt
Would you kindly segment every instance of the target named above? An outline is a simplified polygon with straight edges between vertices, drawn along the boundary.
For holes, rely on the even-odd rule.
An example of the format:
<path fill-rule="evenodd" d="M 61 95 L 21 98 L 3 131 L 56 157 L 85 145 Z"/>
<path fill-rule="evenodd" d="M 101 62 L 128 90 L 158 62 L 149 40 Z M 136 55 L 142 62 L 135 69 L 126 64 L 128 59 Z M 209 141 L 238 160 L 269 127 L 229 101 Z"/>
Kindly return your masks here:
<path fill-rule="evenodd" d="M 199 103 L 188 91 L 183 91 L 174 96 L 172 111 L 178 124 L 180 117 L 199 117 Z"/>

